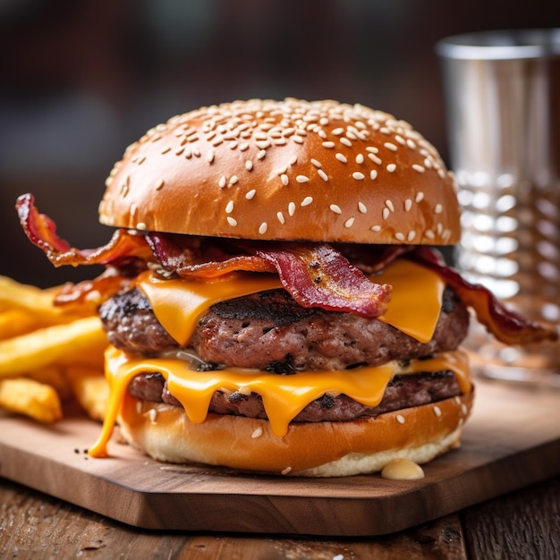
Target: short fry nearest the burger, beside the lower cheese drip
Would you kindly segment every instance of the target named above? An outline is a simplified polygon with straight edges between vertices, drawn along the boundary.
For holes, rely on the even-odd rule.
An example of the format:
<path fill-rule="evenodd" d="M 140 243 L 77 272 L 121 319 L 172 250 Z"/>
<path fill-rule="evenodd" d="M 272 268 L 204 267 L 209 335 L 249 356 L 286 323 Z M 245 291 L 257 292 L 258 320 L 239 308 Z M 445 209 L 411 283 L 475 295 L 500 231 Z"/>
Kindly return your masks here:
<path fill-rule="evenodd" d="M 68 383 L 81 407 L 93 420 L 103 420 L 109 399 L 109 384 L 102 369 L 71 366 L 66 369 Z"/>

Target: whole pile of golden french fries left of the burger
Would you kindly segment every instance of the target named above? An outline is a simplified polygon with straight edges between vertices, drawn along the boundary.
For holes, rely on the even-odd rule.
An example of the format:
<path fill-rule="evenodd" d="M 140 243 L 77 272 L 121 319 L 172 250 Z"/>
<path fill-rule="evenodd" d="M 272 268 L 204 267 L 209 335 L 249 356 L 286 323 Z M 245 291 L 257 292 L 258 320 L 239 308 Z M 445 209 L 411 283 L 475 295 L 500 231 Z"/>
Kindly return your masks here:
<path fill-rule="evenodd" d="M 0 409 L 51 423 L 73 400 L 103 420 L 106 335 L 93 310 L 55 306 L 56 292 L 0 276 Z"/>

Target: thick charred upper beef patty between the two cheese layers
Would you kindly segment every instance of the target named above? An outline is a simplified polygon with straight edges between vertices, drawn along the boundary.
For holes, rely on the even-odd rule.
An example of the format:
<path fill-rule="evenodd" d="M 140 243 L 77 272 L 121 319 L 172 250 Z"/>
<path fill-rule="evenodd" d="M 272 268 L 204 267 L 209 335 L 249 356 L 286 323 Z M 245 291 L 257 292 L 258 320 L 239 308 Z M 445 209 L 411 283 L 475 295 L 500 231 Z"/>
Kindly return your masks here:
<path fill-rule="evenodd" d="M 157 356 L 180 349 L 138 289 L 106 301 L 100 317 L 110 343 L 123 351 Z M 348 369 L 454 350 L 468 326 L 469 313 L 449 288 L 426 344 L 377 319 L 301 308 L 284 290 L 272 290 L 213 305 L 186 348 L 210 364 L 276 373 Z"/>

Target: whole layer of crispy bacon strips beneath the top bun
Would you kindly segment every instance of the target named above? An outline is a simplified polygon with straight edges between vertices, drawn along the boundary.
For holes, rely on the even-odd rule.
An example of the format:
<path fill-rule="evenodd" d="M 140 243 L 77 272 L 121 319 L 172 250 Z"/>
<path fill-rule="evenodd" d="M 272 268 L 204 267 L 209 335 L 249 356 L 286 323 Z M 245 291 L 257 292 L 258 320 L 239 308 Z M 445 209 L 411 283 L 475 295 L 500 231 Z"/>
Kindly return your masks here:
<path fill-rule="evenodd" d="M 436 250 L 425 246 L 395 245 L 370 247 L 344 245 L 333 247 L 326 243 L 252 242 L 246 240 L 212 240 L 170 233 L 133 234 L 127 230 L 115 231 L 104 247 L 94 250 L 73 248 L 56 234 L 55 223 L 34 207 L 30 194 L 21 196 L 16 204 L 21 225 L 30 241 L 44 250 L 56 266 L 101 264 L 115 267 L 124 277 L 131 276 L 136 263 L 158 261 L 165 270 L 182 277 L 212 278 L 233 272 L 249 270 L 274 272 L 280 276 L 284 288 L 303 307 L 351 311 L 364 317 L 376 318 L 386 310 L 391 287 L 371 282 L 364 272 L 386 267 L 392 260 L 413 259 L 435 270 L 450 284 L 462 302 L 477 314 L 479 322 L 505 344 L 533 344 L 555 341 L 558 333 L 522 318 L 508 310 L 487 288 L 470 284 L 445 261 Z M 128 269 L 128 274 L 124 271 Z M 133 273 L 132 273 L 133 274 Z M 66 287 L 61 294 L 69 300 L 90 297 L 99 287 L 117 289 L 121 280 L 107 277 L 103 281 Z"/>

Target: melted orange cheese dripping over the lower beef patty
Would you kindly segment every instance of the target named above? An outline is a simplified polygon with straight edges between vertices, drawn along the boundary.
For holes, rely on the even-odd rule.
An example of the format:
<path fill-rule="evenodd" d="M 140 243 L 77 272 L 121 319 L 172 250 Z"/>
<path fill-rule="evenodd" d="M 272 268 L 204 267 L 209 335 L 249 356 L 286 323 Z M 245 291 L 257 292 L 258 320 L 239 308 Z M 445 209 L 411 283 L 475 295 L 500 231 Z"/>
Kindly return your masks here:
<path fill-rule="evenodd" d="M 186 361 L 167 359 L 130 360 L 126 354 L 110 348 L 106 352 L 106 375 L 110 397 L 98 441 L 89 449 L 96 457 L 106 456 L 106 445 L 120 412 L 121 403 L 132 378 L 140 373 L 159 372 L 170 392 L 182 403 L 194 423 L 206 420 L 210 399 L 216 390 L 255 392 L 262 396 L 270 427 L 277 437 L 283 437 L 291 420 L 310 402 L 322 395 L 348 395 L 365 406 L 381 402 L 386 386 L 396 374 L 451 369 L 463 393 L 471 391 L 469 367 L 462 351 L 442 352 L 436 358 L 413 360 L 406 368 L 397 361 L 382 366 L 337 371 L 304 371 L 281 376 L 256 369 L 217 369 L 195 371 Z"/>

